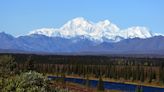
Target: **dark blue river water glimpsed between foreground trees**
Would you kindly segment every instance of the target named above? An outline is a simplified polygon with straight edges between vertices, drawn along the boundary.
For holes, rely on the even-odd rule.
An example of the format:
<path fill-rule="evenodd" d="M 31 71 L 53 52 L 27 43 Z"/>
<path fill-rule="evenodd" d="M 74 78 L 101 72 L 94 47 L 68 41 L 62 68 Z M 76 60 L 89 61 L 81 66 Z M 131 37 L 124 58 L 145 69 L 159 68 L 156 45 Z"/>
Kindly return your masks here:
<path fill-rule="evenodd" d="M 60 77 L 48 76 L 48 79 L 56 79 L 56 78 L 60 78 Z M 84 84 L 86 80 L 79 79 L 79 78 L 65 78 L 65 81 Z M 89 80 L 89 84 L 91 87 L 97 87 L 97 83 L 98 80 Z M 133 84 L 104 81 L 105 89 L 121 90 L 123 92 L 135 92 L 137 87 L 138 87 L 137 85 L 133 85 Z M 140 86 L 140 88 L 142 88 L 143 92 L 164 92 L 164 88 L 149 87 L 149 86 Z"/>

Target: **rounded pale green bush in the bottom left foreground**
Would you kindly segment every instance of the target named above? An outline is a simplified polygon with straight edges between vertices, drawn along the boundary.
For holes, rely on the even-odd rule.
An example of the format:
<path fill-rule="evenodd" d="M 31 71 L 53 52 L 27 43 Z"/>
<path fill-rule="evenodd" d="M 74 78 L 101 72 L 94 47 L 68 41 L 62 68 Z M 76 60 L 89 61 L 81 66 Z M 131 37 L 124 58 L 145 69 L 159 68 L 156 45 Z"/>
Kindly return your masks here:
<path fill-rule="evenodd" d="M 3 92 L 49 92 L 48 80 L 37 72 L 22 73 L 5 81 Z"/>

